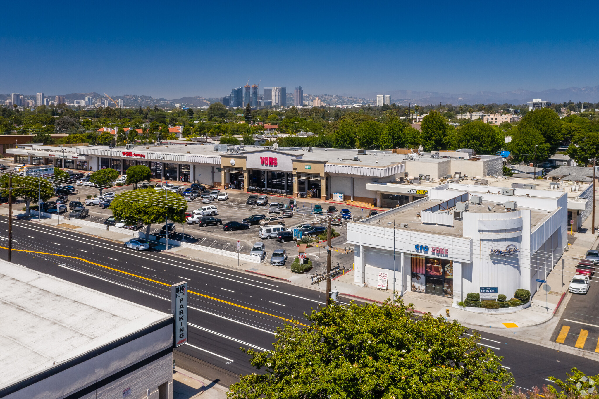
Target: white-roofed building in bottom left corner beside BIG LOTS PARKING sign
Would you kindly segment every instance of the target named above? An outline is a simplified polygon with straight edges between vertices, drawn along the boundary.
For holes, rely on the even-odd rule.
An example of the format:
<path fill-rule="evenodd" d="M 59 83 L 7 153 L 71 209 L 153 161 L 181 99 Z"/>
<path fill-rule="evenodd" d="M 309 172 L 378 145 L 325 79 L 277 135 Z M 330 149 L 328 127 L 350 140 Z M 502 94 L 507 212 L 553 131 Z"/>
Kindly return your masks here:
<path fill-rule="evenodd" d="M 173 315 L 0 265 L 0 397 L 173 398 Z"/>

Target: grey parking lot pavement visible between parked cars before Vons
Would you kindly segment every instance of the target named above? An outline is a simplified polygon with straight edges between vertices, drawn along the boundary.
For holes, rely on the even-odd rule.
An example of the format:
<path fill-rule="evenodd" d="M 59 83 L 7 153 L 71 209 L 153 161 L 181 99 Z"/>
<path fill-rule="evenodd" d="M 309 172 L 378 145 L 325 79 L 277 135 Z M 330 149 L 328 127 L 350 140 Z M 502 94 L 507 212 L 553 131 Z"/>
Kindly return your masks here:
<path fill-rule="evenodd" d="M 113 187 L 110 189 L 105 189 L 104 192 L 115 192 L 118 194 L 119 192 L 132 189 L 132 186 L 123 186 L 123 187 Z M 71 195 L 69 200 L 71 201 L 81 201 L 84 202 L 86 200 L 87 195 L 98 195 L 99 191 L 96 188 L 88 187 L 88 186 L 77 186 L 78 194 Z M 281 197 L 269 197 L 268 204 L 265 206 L 262 205 L 247 205 L 246 200 L 249 197 L 249 194 L 244 194 L 241 192 L 234 192 L 231 190 L 222 191 L 226 192 L 229 195 L 228 200 L 226 201 L 213 201 L 210 204 L 202 203 L 202 198 L 198 197 L 193 201 L 187 202 L 187 211 L 192 213 L 193 210 L 201 208 L 204 205 L 214 205 L 217 207 L 218 213 L 214 216 L 218 219 L 222 220 L 222 224 L 224 225 L 226 222 L 237 221 L 242 222 L 242 220 L 246 217 L 252 216 L 252 214 L 264 214 L 269 216 L 268 214 L 268 204 L 271 202 L 284 202 L 288 204 L 289 198 L 281 198 Z M 326 226 L 326 220 L 322 215 L 313 214 L 313 206 L 314 202 L 304 202 L 297 201 L 297 208 L 295 208 L 292 217 L 285 217 L 283 221 L 285 226 L 288 228 L 294 228 L 294 226 L 298 226 L 302 223 L 311 223 Z M 341 208 L 347 208 L 352 213 L 352 217 L 355 219 L 359 219 L 364 214 L 367 215 L 368 210 L 363 210 L 358 207 L 351 207 L 348 205 L 339 205 L 339 204 L 328 204 L 326 202 L 321 202 L 323 210 L 329 207 L 329 205 L 333 205 L 337 208 L 337 214 L 340 214 Z M 89 216 L 85 217 L 84 220 L 96 223 L 104 223 L 104 221 L 112 215 L 110 209 L 102 209 L 97 205 L 90 205 L 89 207 Z M 280 216 L 280 214 L 271 215 L 271 216 Z M 340 233 L 340 236 L 335 237 L 332 240 L 332 246 L 336 248 L 344 249 L 345 247 L 349 247 L 346 242 L 346 223 L 347 220 L 343 220 L 341 225 L 333 224 L 333 228 Z M 160 231 L 161 227 L 164 223 L 157 223 L 152 225 L 150 228 L 151 233 L 157 233 Z M 142 228 L 142 229 L 145 229 Z M 237 240 L 240 241 L 240 253 L 249 254 L 252 249 L 253 243 L 258 241 L 263 241 L 265 243 L 265 250 L 267 251 L 264 261 L 270 261 L 270 255 L 275 249 L 285 249 L 288 252 L 289 261 L 286 264 L 286 267 L 291 267 L 291 263 L 295 256 L 297 256 L 297 246 L 295 241 L 288 241 L 285 243 L 277 243 L 274 239 L 264 239 L 258 237 L 258 229 L 259 225 L 251 225 L 247 230 L 238 230 L 238 231 L 224 231 L 222 225 L 213 225 L 201 227 L 200 225 L 189 225 L 185 223 L 183 226 L 176 225 L 177 234 L 173 237 L 174 240 L 184 240 L 187 243 L 198 244 L 201 246 L 213 247 L 217 249 L 229 250 L 232 252 L 237 252 Z M 133 235 L 133 232 L 132 232 Z M 314 237 L 317 238 L 317 237 Z M 342 253 L 342 252 L 332 252 L 333 259 L 332 265 L 337 265 L 339 262 L 341 267 L 351 268 L 353 264 L 353 253 Z M 323 269 L 323 265 L 326 262 L 326 250 L 323 247 L 310 247 L 307 250 L 307 255 L 310 257 L 313 262 L 314 271 L 318 271 Z"/>

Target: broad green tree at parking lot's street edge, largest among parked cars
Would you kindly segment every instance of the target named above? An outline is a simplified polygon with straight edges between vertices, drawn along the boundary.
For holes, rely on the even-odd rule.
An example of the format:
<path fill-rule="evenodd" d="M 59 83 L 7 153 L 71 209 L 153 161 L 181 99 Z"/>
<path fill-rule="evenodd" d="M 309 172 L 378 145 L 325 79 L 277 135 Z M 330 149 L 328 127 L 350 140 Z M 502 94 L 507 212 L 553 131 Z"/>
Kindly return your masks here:
<path fill-rule="evenodd" d="M 110 204 L 114 217 L 117 219 L 140 220 L 144 225 L 169 222 L 183 223 L 187 202 L 181 195 L 155 189 L 123 191 L 114 196 Z"/>

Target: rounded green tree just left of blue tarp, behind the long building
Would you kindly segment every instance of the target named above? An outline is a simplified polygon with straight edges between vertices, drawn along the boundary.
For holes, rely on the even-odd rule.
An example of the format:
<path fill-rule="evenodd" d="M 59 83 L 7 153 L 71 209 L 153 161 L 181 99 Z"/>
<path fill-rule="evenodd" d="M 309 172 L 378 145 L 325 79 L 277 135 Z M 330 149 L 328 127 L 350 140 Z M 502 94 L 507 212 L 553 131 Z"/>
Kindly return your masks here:
<path fill-rule="evenodd" d="M 456 134 L 458 148 L 471 148 L 477 154 L 495 155 L 504 144 L 504 136 L 500 131 L 482 120 L 462 126 Z"/>

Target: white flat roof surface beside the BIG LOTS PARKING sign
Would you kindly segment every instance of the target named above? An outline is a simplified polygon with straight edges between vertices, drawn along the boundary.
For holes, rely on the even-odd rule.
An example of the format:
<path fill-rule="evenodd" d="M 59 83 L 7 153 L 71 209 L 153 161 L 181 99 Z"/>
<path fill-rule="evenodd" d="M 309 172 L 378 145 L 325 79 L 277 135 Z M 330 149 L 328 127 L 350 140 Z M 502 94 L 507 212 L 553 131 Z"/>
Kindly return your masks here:
<path fill-rule="evenodd" d="M 0 388 L 170 317 L 0 261 Z"/>

